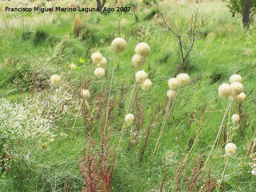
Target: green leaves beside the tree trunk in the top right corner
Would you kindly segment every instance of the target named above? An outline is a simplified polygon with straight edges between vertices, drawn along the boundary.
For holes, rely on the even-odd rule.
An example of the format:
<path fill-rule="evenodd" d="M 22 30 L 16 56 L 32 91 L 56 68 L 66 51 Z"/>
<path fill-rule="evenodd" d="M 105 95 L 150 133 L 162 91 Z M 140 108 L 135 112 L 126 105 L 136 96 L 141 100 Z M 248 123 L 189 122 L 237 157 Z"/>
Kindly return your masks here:
<path fill-rule="evenodd" d="M 236 12 L 239 14 L 243 13 L 245 0 L 229 0 L 227 3 L 227 7 L 230 9 L 230 13 L 232 17 L 235 17 Z M 252 0 L 250 14 L 251 16 L 256 13 L 256 0 Z"/>

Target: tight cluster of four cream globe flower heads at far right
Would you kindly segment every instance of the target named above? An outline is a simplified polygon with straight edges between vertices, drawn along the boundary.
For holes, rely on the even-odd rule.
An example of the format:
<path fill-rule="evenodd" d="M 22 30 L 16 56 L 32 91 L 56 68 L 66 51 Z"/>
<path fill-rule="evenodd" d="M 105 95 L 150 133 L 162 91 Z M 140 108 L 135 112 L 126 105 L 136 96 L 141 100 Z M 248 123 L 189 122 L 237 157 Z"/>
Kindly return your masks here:
<path fill-rule="evenodd" d="M 233 74 L 229 78 L 230 85 L 223 83 L 219 86 L 219 96 L 222 99 L 233 98 L 238 103 L 241 103 L 245 100 L 246 95 L 243 92 L 244 86 L 241 83 L 242 77 L 238 74 Z"/>

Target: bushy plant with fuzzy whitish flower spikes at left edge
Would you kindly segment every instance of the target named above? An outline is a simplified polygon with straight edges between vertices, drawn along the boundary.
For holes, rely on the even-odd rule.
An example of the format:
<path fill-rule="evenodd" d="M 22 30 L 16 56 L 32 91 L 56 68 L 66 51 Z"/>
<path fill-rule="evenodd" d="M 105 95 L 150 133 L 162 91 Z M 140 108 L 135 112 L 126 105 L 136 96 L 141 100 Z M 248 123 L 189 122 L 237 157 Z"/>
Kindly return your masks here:
<path fill-rule="evenodd" d="M 17 142 L 21 137 L 24 141 L 47 139 L 53 141 L 51 115 L 45 115 L 42 102 L 36 99 L 25 100 L 25 103 L 10 103 L 7 99 L 0 100 L 0 149 L 8 142 Z M 43 127 L 44 122 L 44 127 Z"/>

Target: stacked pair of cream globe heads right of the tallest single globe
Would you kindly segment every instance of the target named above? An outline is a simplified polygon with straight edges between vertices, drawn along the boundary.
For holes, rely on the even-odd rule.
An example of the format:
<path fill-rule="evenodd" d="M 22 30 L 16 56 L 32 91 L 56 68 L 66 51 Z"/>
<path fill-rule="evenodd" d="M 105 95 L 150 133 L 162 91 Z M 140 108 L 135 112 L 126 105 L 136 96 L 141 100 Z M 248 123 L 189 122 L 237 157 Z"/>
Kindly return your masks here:
<path fill-rule="evenodd" d="M 135 55 L 132 57 L 132 64 L 137 69 L 141 68 L 146 63 L 146 56 L 151 52 L 147 43 L 139 43 L 135 47 Z"/>

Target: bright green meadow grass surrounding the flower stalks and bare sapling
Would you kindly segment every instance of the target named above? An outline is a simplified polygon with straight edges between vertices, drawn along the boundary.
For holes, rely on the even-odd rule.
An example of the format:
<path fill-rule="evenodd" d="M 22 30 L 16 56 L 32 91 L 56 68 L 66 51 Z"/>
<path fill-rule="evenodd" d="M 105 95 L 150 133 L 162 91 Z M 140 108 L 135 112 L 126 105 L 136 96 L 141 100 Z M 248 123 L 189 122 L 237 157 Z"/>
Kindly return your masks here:
<path fill-rule="evenodd" d="M 47 2 L 46 6 L 48 3 L 52 2 Z M 191 2 L 169 3 L 161 1 L 159 3 L 161 3 L 159 8 L 161 11 L 164 10 L 164 15 L 167 18 L 173 18 L 175 23 L 178 26 L 182 26 L 182 28 L 189 27 L 193 6 L 198 6 L 198 4 Z M 91 2 L 90 5 L 94 4 L 95 2 Z M 4 6 L 4 3 L 0 4 L 1 9 Z M 107 6 L 116 5 L 113 2 L 108 2 Z M 209 7 L 212 8 L 210 9 Z M 132 10 L 128 14 L 116 12 L 81 14 L 80 17 L 86 23 L 84 24 L 83 32 L 78 38 L 73 36 L 72 31 L 76 13 L 54 12 L 52 13 L 54 16 L 48 13 L 41 14 L 52 19 L 43 19 L 38 13 L 29 14 L 26 17 L 23 15 L 24 18 L 35 19 L 43 23 L 42 26 L 42 23 L 37 25 L 30 22 L 28 29 L 22 24 L 22 19 L 21 21 L 17 20 L 18 25 L 12 24 L 11 19 L 18 16 L 18 13 L 4 13 L 6 14 L 4 17 L 9 19 L 9 24 L 8 27 L 0 25 L 2 31 L 0 34 L 0 42 L 2 42 L 0 46 L 0 98 L 6 98 L 12 103 L 24 103 L 27 97 L 46 101 L 51 90 L 47 80 L 51 75 L 59 74 L 62 79 L 60 87 L 71 95 L 71 99 L 64 103 L 69 107 L 66 114 L 55 112 L 58 105 L 51 99 L 49 101 L 47 110 L 49 114 L 53 115 L 53 130 L 57 135 L 54 141 L 48 142 L 45 140 L 39 142 L 37 140 L 25 140 L 24 138 L 25 145 L 21 142 L 20 147 L 17 146 L 17 141 L 10 142 L 12 154 L 17 155 L 14 160 L 8 160 L 10 171 L 5 169 L 6 148 L 0 146 L 1 192 L 64 191 L 65 177 L 67 177 L 69 191 L 82 190 L 84 179 L 79 170 L 79 158 L 86 156 L 89 140 L 81 113 L 74 128 L 75 132 L 71 137 L 71 130 L 78 113 L 78 107 L 75 107 L 71 115 L 67 130 L 65 130 L 65 127 L 75 97 L 80 94 L 78 90 L 83 74 L 91 65 L 91 54 L 99 51 L 108 60 L 107 67 L 104 67 L 107 70 L 107 76 L 96 80 L 90 89 L 91 95 L 94 93 L 95 98 L 90 101 L 92 106 L 90 108 L 91 118 L 86 119 L 90 122 L 92 139 L 99 142 L 98 129 L 101 128 L 101 122 L 105 117 L 106 104 L 101 107 L 101 116 L 98 121 L 94 122 L 93 119 L 95 118 L 95 113 L 99 110 L 97 108 L 99 100 L 106 99 L 108 95 L 112 66 L 115 59 L 115 54 L 110 51 L 110 45 L 112 40 L 119 36 L 126 40 L 127 48 L 118 55 L 119 59 L 114 70 L 111 99 L 114 96 L 116 96 L 117 102 L 124 99 L 125 105 L 124 109 L 120 109 L 117 104 L 112 111 L 113 118 L 110 118 L 108 126 L 111 128 L 111 146 L 119 144 L 134 75 L 137 71 L 132 67 L 131 60 L 135 54 L 134 48 L 139 42 L 147 42 L 151 48 L 151 54 L 147 57 L 146 64 L 140 70 L 144 70 L 148 75 L 155 70 L 156 72 L 151 79 L 153 87 L 150 92 L 144 92 L 140 86 L 137 89 L 137 95 L 141 99 L 140 106 L 142 107 L 143 104 L 145 106 L 144 123 L 141 126 L 140 133 L 142 137 L 138 140 L 137 145 L 130 145 L 131 140 L 135 137 L 135 132 L 126 130 L 121 144 L 122 150 L 118 152 L 117 146 L 115 147 L 115 158 L 117 160 L 114 164 L 112 191 L 157 191 L 164 173 L 163 158 L 165 156 L 167 157 L 165 160 L 166 173 L 168 178 L 171 179 L 182 158 L 185 158 L 190 150 L 201 116 L 207 109 L 203 117 L 204 123 L 210 115 L 209 112 L 216 105 L 219 99 L 219 85 L 228 83 L 229 77 L 234 73 L 240 74 L 243 78 L 246 100 L 243 102 L 240 112 L 242 112 L 243 121 L 246 121 L 246 123 L 240 123 L 240 128 L 236 130 L 236 135 L 232 140 L 238 149 L 235 156 L 229 158 L 221 189 L 222 191 L 254 191 L 255 176 L 251 174 L 251 167 L 246 164 L 249 162 L 246 153 L 247 144 L 248 142 L 250 143 L 255 130 L 256 117 L 255 21 L 249 31 L 243 31 L 241 16 L 238 15 L 232 18 L 225 2 L 201 2 L 197 22 L 202 26 L 198 30 L 213 32 L 203 37 L 207 41 L 200 40 L 195 42 L 193 49 L 200 53 L 200 56 L 190 52 L 187 68 L 179 72 L 189 74 L 191 84 L 179 90 L 172 112 L 164 128 L 161 143 L 158 146 L 158 155 L 153 159 L 151 168 L 148 169 L 164 119 L 164 112 L 158 117 L 154 116 L 155 109 L 158 104 L 160 104 L 158 108 L 160 111 L 167 106 L 166 92 L 169 90 L 167 82 L 169 78 L 173 77 L 176 66 L 181 63 L 176 36 L 169 30 L 163 29 L 155 19 L 151 19 L 156 14 L 153 13 L 154 10 L 152 7 L 138 5 L 136 15 L 139 18 L 139 22 L 136 22 Z M 4 21 L 4 17 L 1 18 L 1 21 Z M 158 17 L 158 19 L 157 21 L 160 21 L 161 17 Z M 148 28 L 150 34 L 145 35 L 145 33 L 141 32 L 143 27 L 144 30 Z M 186 43 L 188 41 L 188 38 L 185 37 L 187 32 L 181 32 L 181 35 Z M 103 42 L 100 42 L 101 39 L 103 39 Z M 84 59 L 83 63 L 79 63 L 80 57 Z M 78 69 L 70 70 L 72 62 L 76 64 Z M 90 70 L 87 80 L 93 77 L 93 69 L 95 67 L 94 65 Z M 120 96 L 122 81 L 124 81 L 125 87 L 130 86 L 123 97 Z M 88 85 L 85 86 L 85 88 L 88 88 Z M 55 89 L 53 89 L 51 96 L 54 96 Z M 97 98 L 103 89 L 104 96 Z M 221 100 L 214 110 L 191 152 L 188 161 L 189 171 L 193 169 L 194 157 L 199 150 L 201 156 L 204 152 L 206 157 L 209 155 L 222 122 L 226 105 L 227 100 Z M 63 106 L 59 108 L 61 107 Z M 136 106 L 133 105 L 131 113 L 136 114 L 136 112 Z M 230 117 L 234 113 L 238 113 L 238 106 L 235 103 L 232 104 Z M 245 115 L 246 113 L 247 115 Z M 145 130 L 152 118 L 153 127 L 150 131 L 142 163 L 138 165 L 138 151 L 140 152 L 143 146 Z M 228 117 L 224 121 L 226 129 L 227 121 Z M 243 134 L 242 131 L 244 132 Z M 223 136 L 220 138 L 222 139 Z M 42 147 L 42 143 L 46 143 L 45 148 Z M 128 148 L 128 146 L 131 146 L 131 148 Z M 212 164 L 211 179 L 217 177 L 217 186 L 226 162 L 226 157 L 223 156 L 225 154 L 224 146 L 219 147 L 218 145 L 218 153 L 214 150 L 211 155 L 211 157 L 214 157 L 210 162 Z M 91 150 L 93 151 L 93 149 Z M 239 166 L 241 161 L 245 163 Z M 209 166 L 206 169 L 208 170 Z M 184 170 L 182 174 L 184 178 Z M 164 190 L 166 191 L 170 187 L 170 191 L 175 191 L 175 185 L 176 181 L 168 185 L 168 180 L 164 180 Z M 185 182 L 183 180 L 182 186 L 184 185 Z"/>

